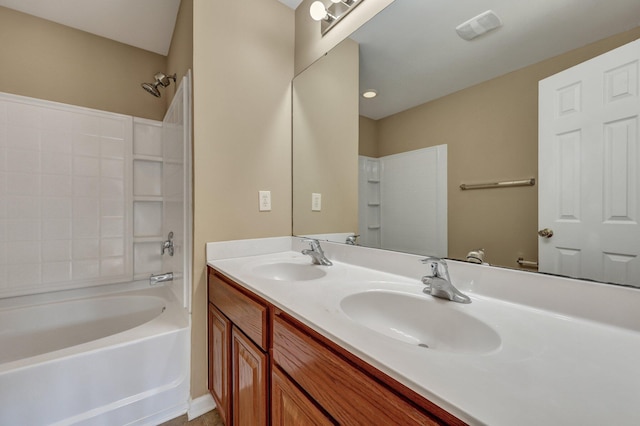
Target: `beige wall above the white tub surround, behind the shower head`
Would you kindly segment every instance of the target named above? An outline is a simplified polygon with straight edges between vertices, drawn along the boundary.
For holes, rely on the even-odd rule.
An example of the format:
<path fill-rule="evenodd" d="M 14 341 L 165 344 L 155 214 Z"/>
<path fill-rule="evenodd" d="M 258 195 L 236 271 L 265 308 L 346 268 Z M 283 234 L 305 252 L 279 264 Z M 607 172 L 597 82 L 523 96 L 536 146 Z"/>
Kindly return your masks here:
<path fill-rule="evenodd" d="M 166 57 L 0 7 L 0 91 L 162 120 L 140 83 Z"/>

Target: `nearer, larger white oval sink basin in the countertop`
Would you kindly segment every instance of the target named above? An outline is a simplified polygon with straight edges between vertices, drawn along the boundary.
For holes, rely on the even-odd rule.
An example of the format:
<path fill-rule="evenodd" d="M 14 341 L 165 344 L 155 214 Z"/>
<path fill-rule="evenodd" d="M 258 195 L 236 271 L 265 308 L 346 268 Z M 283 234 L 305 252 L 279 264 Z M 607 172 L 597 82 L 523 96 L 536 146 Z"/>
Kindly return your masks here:
<path fill-rule="evenodd" d="M 340 307 L 353 321 L 400 342 L 455 353 L 487 353 L 500 336 L 462 312 L 468 305 L 408 293 L 371 290 L 346 296 Z"/>

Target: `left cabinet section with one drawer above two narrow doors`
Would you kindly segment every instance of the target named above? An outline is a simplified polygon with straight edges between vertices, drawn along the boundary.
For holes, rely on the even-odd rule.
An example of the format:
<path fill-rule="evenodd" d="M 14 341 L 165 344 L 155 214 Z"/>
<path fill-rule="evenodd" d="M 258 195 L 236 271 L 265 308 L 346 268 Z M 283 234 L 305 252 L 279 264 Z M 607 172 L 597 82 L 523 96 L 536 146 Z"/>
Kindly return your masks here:
<path fill-rule="evenodd" d="M 209 270 L 209 390 L 226 425 L 269 424 L 266 302 Z"/>

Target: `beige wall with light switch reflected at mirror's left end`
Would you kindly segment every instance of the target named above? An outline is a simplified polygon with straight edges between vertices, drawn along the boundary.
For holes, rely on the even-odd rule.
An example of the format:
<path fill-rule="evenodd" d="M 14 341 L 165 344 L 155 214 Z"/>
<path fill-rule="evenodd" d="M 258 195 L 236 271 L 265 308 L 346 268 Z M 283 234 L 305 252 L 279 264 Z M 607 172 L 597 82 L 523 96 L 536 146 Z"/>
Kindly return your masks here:
<path fill-rule="evenodd" d="M 344 40 L 293 81 L 294 235 L 358 231 L 358 57 Z"/>

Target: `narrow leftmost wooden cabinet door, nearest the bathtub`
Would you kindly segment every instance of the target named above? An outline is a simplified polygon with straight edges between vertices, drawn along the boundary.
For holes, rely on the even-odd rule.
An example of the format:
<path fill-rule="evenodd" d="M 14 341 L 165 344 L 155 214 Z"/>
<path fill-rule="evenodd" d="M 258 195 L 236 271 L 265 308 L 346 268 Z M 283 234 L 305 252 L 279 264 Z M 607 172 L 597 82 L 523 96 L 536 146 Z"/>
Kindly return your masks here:
<path fill-rule="evenodd" d="M 231 323 L 209 303 L 209 390 L 220 417 L 231 421 Z"/>

